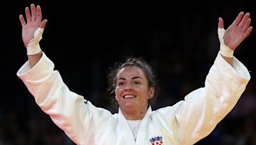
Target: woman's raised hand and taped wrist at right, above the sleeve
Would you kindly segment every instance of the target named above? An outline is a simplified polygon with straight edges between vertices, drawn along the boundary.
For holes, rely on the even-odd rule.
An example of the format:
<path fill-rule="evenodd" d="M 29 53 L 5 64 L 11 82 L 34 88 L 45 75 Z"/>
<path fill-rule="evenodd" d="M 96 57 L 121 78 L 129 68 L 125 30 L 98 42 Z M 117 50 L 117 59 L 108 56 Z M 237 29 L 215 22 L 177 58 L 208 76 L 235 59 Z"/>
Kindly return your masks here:
<path fill-rule="evenodd" d="M 233 63 L 232 54 L 234 50 L 236 50 L 237 46 L 239 46 L 240 43 L 249 36 L 250 32 L 252 32 L 252 26 L 250 26 L 250 24 L 250 13 L 244 15 L 244 12 L 241 11 L 234 22 L 225 31 L 223 19 L 221 17 L 219 18 L 218 35 L 221 43 L 221 57 L 223 57 L 223 59 L 230 65 Z"/>

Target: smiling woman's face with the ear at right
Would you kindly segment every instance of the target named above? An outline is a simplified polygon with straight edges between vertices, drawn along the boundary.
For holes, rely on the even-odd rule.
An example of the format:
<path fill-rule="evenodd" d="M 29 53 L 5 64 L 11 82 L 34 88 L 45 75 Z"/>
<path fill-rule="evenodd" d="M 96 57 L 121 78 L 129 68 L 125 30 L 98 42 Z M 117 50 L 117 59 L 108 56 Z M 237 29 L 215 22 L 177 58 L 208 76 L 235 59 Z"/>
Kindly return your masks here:
<path fill-rule="evenodd" d="M 116 100 L 121 109 L 147 109 L 148 99 L 154 96 L 154 88 L 148 88 L 148 80 L 136 66 L 126 66 L 116 75 Z"/>

